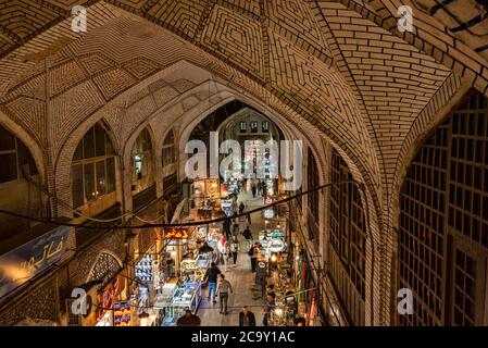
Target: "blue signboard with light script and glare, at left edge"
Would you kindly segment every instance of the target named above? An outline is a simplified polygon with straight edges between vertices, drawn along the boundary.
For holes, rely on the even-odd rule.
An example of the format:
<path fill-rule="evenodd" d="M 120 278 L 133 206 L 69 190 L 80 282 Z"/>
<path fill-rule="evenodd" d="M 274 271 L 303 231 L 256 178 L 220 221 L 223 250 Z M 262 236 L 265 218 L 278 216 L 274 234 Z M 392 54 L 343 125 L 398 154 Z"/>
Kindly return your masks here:
<path fill-rule="evenodd" d="M 58 262 L 68 233 L 60 226 L 0 256 L 0 298 Z"/>

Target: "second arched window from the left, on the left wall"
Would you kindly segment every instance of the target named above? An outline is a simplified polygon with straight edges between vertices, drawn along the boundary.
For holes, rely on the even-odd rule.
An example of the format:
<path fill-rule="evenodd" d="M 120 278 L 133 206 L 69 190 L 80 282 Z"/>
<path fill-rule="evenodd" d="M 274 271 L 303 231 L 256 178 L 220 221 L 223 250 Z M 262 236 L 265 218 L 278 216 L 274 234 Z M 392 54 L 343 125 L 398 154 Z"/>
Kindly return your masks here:
<path fill-rule="evenodd" d="M 79 141 L 71 170 L 74 208 L 115 191 L 115 156 L 101 123 L 92 126 Z"/>

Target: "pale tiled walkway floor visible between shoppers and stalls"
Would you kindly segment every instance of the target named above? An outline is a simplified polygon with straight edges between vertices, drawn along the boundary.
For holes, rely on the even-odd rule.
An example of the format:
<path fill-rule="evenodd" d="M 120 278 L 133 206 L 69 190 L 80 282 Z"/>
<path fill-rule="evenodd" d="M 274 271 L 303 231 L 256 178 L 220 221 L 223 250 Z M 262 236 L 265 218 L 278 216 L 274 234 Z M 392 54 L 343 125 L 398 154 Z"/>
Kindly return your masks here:
<path fill-rule="evenodd" d="M 262 197 L 253 199 L 252 195 L 246 192 L 239 195 L 238 202 L 241 200 L 247 204 L 247 209 L 252 209 L 263 203 Z M 261 217 L 261 213 L 253 213 L 251 215 L 251 231 L 254 235 L 254 240 L 258 240 L 259 231 L 264 228 L 264 221 Z M 199 315 L 202 321 L 202 326 L 238 326 L 239 312 L 245 304 L 254 313 L 256 325 L 262 326 L 264 303 L 261 299 L 260 288 L 254 285 L 254 273 L 251 272 L 251 262 L 242 236 L 239 236 L 239 241 L 241 245 L 241 252 L 237 258 L 237 264 L 234 266 L 230 261 L 227 266 L 227 272 L 225 273 L 226 278 L 230 282 L 234 288 L 234 294 L 230 294 L 228 299 L 228 314 L 225 315 L 218 313 L 218 301 L 216 303 L 209 301 L 207 299 L 208 291 L 204 289 L 203 299 L 200 302 L 200 308 L 197 312 L 197 315 Z M 220 268 L 221 270 L 224 269 L 223 265 Z"/>

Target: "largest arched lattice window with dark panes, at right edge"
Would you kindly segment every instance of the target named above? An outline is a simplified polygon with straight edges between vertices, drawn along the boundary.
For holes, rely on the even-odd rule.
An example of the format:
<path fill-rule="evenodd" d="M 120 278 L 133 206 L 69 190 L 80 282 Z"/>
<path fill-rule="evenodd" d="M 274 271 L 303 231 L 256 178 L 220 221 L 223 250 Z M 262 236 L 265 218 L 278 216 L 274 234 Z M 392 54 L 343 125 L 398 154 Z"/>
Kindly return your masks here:
<path fill-rule="evenodd" d="M 486 325 L 488 99 L 471 91 L 410 163 L 400 195 L 401 325 Z"/>

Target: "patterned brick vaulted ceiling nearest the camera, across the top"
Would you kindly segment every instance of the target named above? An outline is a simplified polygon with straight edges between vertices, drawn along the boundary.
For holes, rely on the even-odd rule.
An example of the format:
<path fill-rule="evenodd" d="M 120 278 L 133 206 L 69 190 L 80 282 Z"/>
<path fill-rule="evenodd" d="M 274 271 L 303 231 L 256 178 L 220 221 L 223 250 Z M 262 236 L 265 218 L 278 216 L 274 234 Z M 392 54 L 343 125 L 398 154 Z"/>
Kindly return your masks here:
<path fill-rule="evenodd" d="M 402 3 L 414 9 L 413 33 L 398 32 L 400 2 L 388 0 L 2 1 L 0 110 L 42 148 L 49 142 L 55 161 L 89 115 L 121 94 L 147 98 L 135 87 L 187 60 L 313 125 L 370 187 L 388 190 L 422 132 L 418 120 L 434 117 L 463 82 L 481 92 L 488 85 L 480 45 L 487 21 L 450 30 L 481 13 L 473 0 L 455 18 L 448 9 L 433 11 L 433 1 Z M 70 29 L 75 4 L 88 7 L 83 35 Z M 154 82 L 145 87 L 146 105 L 170 102 L 191 84 Z M 140 108 L 130 111 L 134 119 L 150 113 Z"/>

